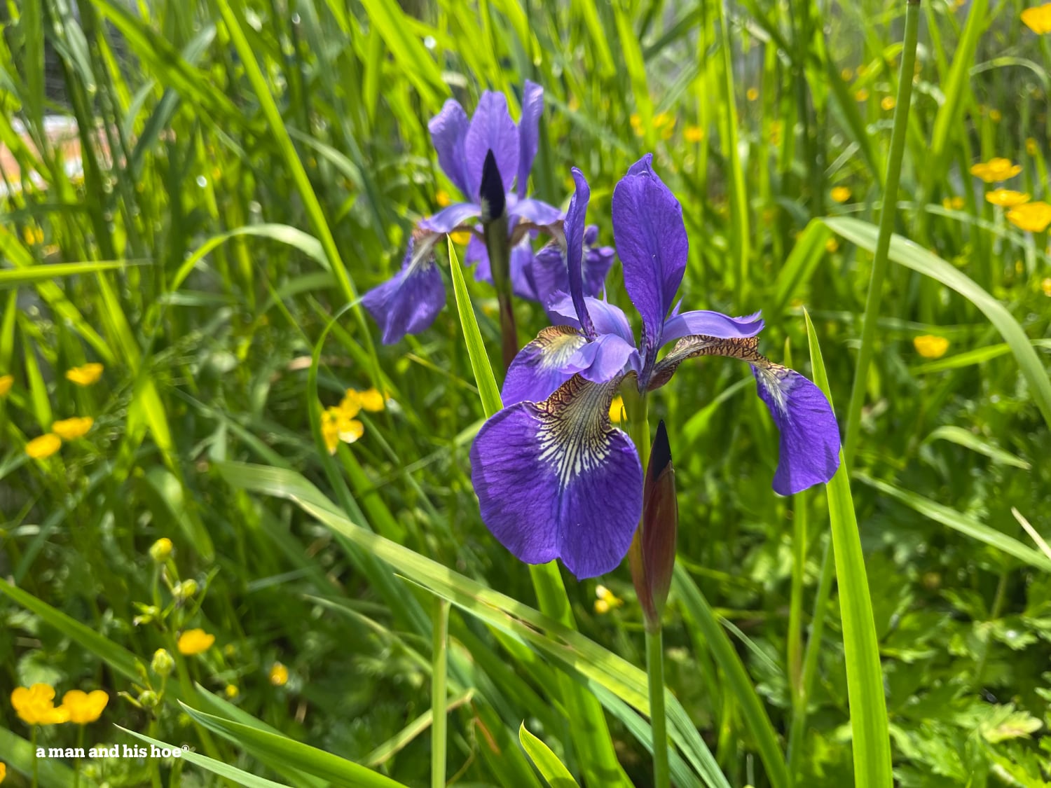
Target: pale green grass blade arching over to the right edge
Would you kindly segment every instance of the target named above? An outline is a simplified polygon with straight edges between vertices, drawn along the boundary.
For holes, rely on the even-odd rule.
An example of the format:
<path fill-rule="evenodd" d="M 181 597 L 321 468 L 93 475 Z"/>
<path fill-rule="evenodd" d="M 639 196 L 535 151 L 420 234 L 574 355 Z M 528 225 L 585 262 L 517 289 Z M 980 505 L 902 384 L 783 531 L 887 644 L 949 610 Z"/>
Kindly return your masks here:
<path fill-rule="evenodd" d="M 829 216 L 823 221 L 847 241 L 868 251 L 875 250 L 877 228 L 871 223 L 849 216 Z M 1026 332 L 1004 305 L 959 268 L 901 235 L 891 236 L 889 254 L 894 263 L 941 282 L 982 310 L 1010 346 L 1044 420 L 1051 427 L 1051 379 Z"/>

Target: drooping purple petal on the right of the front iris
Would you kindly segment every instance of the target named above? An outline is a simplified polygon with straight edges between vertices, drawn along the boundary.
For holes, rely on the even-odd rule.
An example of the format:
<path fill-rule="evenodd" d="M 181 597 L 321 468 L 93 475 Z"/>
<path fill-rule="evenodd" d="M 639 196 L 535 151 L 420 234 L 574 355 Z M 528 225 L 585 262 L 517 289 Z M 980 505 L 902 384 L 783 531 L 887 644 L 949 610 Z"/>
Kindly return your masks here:
<path fill-rule="evenodd" d="M 821 389 L 780 365 L 753 365 L 758 393 L 781 431 L 774 490 L 792 495 L 824 484 L 840 466 L 840 429 Z"/>

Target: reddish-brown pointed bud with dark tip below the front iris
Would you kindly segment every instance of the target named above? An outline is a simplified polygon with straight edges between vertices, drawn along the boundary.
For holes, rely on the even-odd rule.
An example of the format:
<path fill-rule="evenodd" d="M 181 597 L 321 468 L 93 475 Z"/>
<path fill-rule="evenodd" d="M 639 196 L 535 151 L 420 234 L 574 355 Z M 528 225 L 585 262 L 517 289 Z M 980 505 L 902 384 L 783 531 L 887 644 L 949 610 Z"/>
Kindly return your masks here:
<path fill-rule="evenodd" d="M 679 530 L 679 504 L 675 497 L 675 469 L 667 430 L 657 427 L 650 464 L 642 484 L 642 522 L 632 545 L 632 580 L 642 606 L 646 629 L 660 629 L 675 568 L 675 541 Z"/>

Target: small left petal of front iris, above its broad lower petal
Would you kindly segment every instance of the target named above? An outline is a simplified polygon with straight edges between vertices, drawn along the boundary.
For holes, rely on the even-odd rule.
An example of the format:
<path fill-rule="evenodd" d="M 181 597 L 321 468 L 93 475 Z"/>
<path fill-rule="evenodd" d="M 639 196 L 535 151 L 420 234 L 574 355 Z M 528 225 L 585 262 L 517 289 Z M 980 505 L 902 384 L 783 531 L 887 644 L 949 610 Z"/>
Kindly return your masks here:
<path fill-rule="evenodd" d="M 503 406 L 542 402 L 576 371 L 566 369 L 570 359 L 588 344 L 584 336 L 568 326 L 549 326 L 536 339 L 518 351 L 508 368 L 500 398 Z"/>

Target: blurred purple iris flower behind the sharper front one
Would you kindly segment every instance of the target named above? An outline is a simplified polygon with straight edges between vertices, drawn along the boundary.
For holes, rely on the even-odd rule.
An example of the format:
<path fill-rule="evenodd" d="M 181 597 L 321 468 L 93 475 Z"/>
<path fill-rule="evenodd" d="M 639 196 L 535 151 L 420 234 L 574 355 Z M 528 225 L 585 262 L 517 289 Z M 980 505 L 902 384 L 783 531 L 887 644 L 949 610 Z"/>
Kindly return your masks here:
<path fill-rule="evenodd" d="M 561 219 L 561 212 L 547 203 L 526 196 L 526 185 L 539 144 L 539 122 L 543 112 L 543 88 L 527 81 L 522 91 L 522 116 L 516 126 L 502 94 L 487 90 L 478 101 L 474 117 L 450 99 L 428 127 L 438 154 L 438 164 L 465 196 L 423 220 L 401 262 L 401 269 L 388 282 L 362 298 L 365 308 L 383 330 L 387 345 L 428 328 L 446 304 L 446 291 L 434 262 L 434 244 L 446 233 L 461 228 L 475 217 L 486 217 L 487 199 L 481 192 L 482 169 L 488 154 L 498 172 L 504 211 L 512 229 L 518 222 L 537 226 Z M 485 247 L 482 247 L 485 248 Z M 520 251 L 519 255 L 524 254 Z M 528 252 L 532 255 L 532 251 Z M 488 256 L 487 256 L 488 261 Z M 521 266 L 519 266 L 520 268 Z"/>

